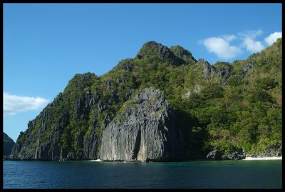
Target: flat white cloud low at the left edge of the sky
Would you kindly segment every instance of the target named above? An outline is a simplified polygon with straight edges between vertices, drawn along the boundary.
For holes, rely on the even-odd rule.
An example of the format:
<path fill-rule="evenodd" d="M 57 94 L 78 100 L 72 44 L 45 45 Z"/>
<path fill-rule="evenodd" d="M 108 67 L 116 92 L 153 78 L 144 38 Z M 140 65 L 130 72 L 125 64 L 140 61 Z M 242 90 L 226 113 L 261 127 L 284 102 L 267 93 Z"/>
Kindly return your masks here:
<path fill-rule="evenodd" d="M 6 114 L 14 115 L 24 111 L 37 110 L 46 106 L 48 99 L 40 97 L 15 96 L 3 93 L 3 111 Z"/>

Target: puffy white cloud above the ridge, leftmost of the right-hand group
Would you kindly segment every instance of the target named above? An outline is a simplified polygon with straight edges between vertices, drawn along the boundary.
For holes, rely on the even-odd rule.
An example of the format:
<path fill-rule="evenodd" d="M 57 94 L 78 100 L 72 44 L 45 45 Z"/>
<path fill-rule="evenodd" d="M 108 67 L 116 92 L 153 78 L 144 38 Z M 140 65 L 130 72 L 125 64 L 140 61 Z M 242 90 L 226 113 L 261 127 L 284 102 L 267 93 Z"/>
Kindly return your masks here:
<path fill-rule="evenodd" d="M 230 46 L 229 41 L 232 41 L 236 37 L 234 35 L 225 35 L 221 37 L 210 37 L 204 39 L 202 44 L 206 46 L 206 49 L 217 56 L 220 59 L 231 59 L 239 54 L 242 54 L 242 51 L 237 46 Z"/>

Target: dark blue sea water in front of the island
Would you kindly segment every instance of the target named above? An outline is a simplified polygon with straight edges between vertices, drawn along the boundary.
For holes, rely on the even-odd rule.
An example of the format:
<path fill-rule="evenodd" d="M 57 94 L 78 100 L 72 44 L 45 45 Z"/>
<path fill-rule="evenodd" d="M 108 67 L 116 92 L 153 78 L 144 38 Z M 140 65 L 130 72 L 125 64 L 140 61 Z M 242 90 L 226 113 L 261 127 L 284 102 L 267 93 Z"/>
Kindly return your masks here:
<path fill-rule="evenodd" d="M 3 188 L 282 188 L 282 161 L 3 161 Z"/>

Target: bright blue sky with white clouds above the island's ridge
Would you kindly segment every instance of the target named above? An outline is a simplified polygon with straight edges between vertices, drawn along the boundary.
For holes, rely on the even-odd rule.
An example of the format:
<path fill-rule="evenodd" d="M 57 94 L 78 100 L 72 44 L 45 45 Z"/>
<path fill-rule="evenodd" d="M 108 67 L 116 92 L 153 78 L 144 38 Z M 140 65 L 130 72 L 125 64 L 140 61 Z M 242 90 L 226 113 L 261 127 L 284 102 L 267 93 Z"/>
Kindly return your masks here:
<path fill-rule="evenodd" d="M 16 141 L 75 74 L 105 74 L 146 41 L 214 64 L 280 36 L 281 4 L 4 4 L 4 132 Z"/>

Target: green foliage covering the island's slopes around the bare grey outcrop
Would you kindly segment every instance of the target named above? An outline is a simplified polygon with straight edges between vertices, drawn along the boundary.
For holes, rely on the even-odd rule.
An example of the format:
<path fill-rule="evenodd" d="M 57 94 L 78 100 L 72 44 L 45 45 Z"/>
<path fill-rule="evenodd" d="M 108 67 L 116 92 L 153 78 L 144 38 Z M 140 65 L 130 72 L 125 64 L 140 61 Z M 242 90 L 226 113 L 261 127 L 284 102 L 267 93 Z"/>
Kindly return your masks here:
<path fill-rule="evenodd" d="M 76 146 L 78 131 L 85 139 L 95 128 L 100 137 L 106 119 L 113 119 L 128 98 L 154 86 L 172 103 L 187 139 L 188 158 L 204 157 L 212 149 L 261 153 L 282 139 L 281 46 L 279 39 L 247 60 L 217 62 L 209 75 L 202 62 L 181 46 L 145 44 L 138 56 L 120 61 L 103 76 L 76 74 L 39 115 L 48 114 L 48 121 L 34 120 L 35 128 L 21 133 L 18 141 L 36 142 L 26 139 L 32 131 L 44 143 L 51 131 L 58 131 L 63 148 L 82 151 Z M 88 108 L 86 93 L 96 93 L 104 110 Z"/>

